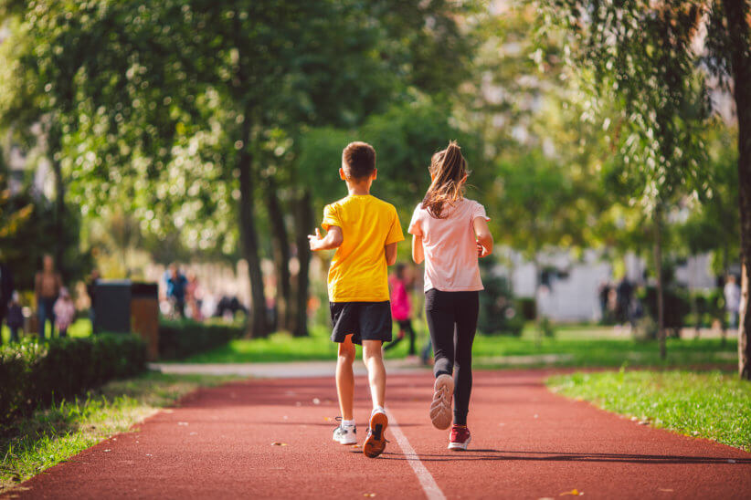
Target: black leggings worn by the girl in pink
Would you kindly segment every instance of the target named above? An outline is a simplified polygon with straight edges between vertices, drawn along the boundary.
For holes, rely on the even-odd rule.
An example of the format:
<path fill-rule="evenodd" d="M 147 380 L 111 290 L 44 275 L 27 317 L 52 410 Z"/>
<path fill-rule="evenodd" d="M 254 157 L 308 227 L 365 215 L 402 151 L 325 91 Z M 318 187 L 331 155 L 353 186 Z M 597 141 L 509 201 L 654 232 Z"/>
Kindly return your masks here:
<path fill-rule="evenodd" d="M 472 391 L 472 342 L 480 308 L 479 292 L 425 292 L 425 316 L 436 364 L 433 373 L 454 377 L 454 423 L 467 424 Z M 456 367 L 456 371 L 454 371 Z"/>

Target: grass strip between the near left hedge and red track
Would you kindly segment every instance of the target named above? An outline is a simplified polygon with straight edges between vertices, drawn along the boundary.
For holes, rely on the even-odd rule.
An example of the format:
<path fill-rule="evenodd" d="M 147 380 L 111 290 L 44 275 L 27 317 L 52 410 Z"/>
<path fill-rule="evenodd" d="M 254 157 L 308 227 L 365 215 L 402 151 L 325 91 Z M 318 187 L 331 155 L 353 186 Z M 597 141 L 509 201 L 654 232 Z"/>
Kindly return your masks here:
<path fill-rule="evenodd" d="M 105 384 L 74 401 L 62 401 L 0 431 L 0 495 L 117 432 L 127 432 L 159 408 L 199 386 L 227 377 L 149 372 Z"/>

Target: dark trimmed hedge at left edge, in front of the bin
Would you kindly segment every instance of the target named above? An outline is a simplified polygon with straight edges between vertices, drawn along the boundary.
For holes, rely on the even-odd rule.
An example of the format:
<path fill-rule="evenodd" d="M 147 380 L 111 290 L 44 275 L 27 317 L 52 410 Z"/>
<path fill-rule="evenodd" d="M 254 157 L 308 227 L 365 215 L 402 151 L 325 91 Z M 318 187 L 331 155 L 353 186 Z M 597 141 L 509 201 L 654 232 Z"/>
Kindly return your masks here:
<path fill-rule="evenodd" d="M 0 349 L 0 425 L 146 368 L 146 346 L 132 335 L 51 339 Z"/>

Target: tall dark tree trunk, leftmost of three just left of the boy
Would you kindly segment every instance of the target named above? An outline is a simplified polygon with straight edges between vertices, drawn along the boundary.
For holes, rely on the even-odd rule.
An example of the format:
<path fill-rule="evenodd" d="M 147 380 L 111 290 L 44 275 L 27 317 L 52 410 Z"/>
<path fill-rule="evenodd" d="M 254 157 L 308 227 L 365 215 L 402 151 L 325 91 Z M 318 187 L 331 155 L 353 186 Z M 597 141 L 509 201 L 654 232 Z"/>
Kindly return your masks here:
<path fill-rule="evenodd" d="M 238 171 L 240 181 L 240 238 L 242 255 L 248 261 L 250 278 L 250 296 L 253 305 L 250 311 L 250 334 L 253 337 L 267 337 L 269 323 L 266 318 L 266 297 L 263 293 L 263 274 L 260 270 L 259 241 L 254 220 L 253 195 L 253 157 L 250 153 L 250 120 L 246 113 L 246 120 L 241 128 L 242 148 L 238 152 Z"/>

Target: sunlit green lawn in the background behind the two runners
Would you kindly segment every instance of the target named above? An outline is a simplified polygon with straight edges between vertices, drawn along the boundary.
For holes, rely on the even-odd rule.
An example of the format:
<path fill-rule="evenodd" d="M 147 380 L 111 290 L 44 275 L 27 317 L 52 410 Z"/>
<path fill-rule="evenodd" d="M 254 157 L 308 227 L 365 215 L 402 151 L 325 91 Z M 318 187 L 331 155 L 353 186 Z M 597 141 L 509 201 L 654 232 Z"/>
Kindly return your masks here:
<path fill-rule="evenodd" d="M 415 321 L 418 331 L 418 350 L 427 339 L 424 324 Z M 185 362 L 192 363 L 259 363 L 271 361 L 301 361 L 334 359 L 336 346 L 329 340 L 329 329 L 312 328 L 311 336 L 292 338 L 284 333 L 272 334 L 269 339 L 237 339 L 226 346 L 196 354 Z M 596 326 L 566 326 L 556 328 L 554 339 L 538 339 L 534 328 L 525 328 L 520 338 L 478 335 L 472 349 L 478 368 L 502 368 L 502 363 L 487 359 L 496 356 L 530 356 L 560 354 L 563 359 L 555 366 L 614 366 L 624 362 L 631 366 L 707 366 L 735 363 L 735 339 L 722 345 L 720 339 L 668 340 L 668 359 L 661 360 L 656 342 L 638 342 L 629 336 L 616 337 L 613 328 Z M 407 339 L 386 358 L 407 355 Z M 539 363 L 537 363 L 539 365 Z M 531 363 L 531 366 L 537 366 Z M 517 365 L 518 366 L 518 365 Z"/>

